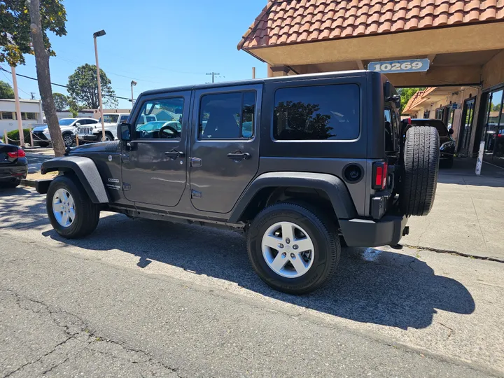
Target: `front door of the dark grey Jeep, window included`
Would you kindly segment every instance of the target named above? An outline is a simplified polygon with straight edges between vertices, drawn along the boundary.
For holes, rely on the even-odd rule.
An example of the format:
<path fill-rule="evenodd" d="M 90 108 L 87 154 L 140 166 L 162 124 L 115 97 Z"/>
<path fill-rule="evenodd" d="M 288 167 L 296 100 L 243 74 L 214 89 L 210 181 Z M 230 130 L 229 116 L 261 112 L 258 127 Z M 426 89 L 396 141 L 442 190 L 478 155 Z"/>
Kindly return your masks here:
<path fill-rule="evenodd" d="M 127 200 L 164 207 L 179 203 L 186 187 L 190 93 L 141 97 L 131 118 L 132 141 L 123 144 Z"/>

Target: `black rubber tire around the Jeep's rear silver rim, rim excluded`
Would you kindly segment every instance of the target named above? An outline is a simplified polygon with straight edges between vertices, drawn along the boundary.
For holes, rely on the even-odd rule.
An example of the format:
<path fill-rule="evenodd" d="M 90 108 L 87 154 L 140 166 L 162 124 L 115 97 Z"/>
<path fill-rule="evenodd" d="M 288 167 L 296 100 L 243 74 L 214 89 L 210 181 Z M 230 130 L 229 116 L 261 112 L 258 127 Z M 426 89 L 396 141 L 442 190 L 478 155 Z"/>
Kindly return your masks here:
<path fill-rule="evenodd" d="M 277 274 L 267 265 L 262 255 L 263 235 L 272 225 L 282 221 L 300 226 L 313 242 L 313 262 L 302 276 L 287 278 Z M 335 272 L 341 253 L 336 230 L 336 226 L 323 211 L 311 209 L 304 204 L 289 202 L 274 204 L 262 210 L 248 230 L 248 258 L 260 279 L 275 290 L 288 294 L 306 294 L 321 286 Z"/>

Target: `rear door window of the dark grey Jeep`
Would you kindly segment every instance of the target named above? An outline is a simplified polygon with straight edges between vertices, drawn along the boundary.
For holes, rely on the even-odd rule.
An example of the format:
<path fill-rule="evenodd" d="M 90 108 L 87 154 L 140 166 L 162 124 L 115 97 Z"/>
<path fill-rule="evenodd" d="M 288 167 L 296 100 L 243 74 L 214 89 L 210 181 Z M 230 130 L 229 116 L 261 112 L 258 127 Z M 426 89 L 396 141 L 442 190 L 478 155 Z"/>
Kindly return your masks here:
<path fill-rule="evenodd" d="M 198 139 L 250 139 L 253 137 L 255 92 L 202 96 Z"/>

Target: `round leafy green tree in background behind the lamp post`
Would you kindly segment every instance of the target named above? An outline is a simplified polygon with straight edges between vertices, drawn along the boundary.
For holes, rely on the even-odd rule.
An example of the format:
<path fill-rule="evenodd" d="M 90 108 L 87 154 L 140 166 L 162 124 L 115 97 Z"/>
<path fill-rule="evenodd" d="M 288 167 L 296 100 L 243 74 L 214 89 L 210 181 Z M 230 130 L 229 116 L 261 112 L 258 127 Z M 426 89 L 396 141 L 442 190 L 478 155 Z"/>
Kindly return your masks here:
<path fill-rule="evenodd" d="M 112 82 L 100 69 L 100 80 L 102 82 L 102 97 L 104 104 L 108 106 L 118 106 L 115 97 L 116 92 L 112 89 Z M 69 76 L 67 88 L 69 94 L 78 104 L 83 104 L 88 109 L 98 109 L 98 76 L 94 64 L 84 64 L 77 67 L 76 71 Z"/>

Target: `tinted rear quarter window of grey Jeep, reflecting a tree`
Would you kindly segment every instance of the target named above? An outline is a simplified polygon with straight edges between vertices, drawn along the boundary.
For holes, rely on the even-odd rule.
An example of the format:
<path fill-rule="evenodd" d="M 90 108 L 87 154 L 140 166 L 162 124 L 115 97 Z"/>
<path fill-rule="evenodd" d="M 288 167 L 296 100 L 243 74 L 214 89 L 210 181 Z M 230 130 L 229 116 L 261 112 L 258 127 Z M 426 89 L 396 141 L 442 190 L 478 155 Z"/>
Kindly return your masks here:
<path fill-rule="evenodd" d="M 317 85 L 276 90 L 276 140 L 348 140 L 359 135 L 358 85 Z"/>

